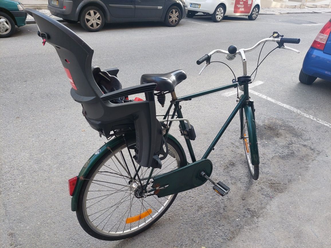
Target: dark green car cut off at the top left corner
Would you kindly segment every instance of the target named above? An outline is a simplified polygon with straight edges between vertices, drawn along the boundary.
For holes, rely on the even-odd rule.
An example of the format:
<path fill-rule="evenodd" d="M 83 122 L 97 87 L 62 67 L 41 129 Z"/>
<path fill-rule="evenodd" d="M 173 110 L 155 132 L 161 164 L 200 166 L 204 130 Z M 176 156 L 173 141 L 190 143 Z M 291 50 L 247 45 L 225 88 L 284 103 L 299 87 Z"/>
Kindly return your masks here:
<path fill-rule="evenodd" d="M 15 26 L 26 24 L 24 6 L 19 1 L 0 0 L 0 38 L 7 38 L 15 33 Z"/>

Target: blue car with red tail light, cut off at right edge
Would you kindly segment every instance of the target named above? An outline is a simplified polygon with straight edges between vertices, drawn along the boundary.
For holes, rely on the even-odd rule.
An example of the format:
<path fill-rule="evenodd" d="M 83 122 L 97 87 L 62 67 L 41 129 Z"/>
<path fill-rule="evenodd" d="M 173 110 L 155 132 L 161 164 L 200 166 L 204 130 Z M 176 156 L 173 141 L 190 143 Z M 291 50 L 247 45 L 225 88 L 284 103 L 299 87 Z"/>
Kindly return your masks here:
<path fill-rule="evenodd" d="M 300 71 L 299 80 L 312 84 L 316 78 L 331 81 L 331 19 L 311 44 Z"/>

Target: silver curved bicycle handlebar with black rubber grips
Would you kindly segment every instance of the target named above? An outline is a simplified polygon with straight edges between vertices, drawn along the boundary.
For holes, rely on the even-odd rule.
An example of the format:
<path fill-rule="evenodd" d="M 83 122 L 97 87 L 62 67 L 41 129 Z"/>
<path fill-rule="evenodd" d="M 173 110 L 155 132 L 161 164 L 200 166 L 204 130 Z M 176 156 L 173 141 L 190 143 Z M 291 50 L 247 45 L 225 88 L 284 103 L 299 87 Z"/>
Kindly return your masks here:
<path fill-rule="evenodd" d="M 262 43 L 265 43 L 267 41 L 273 41 L 273 42 L 277 42 L 277 43 L 292 43 L 292 44 L 299 44 L 300 43 L 300 39 L 298 39 L 298 38 L 283 38 L 283 37 L 281 37 L 281 38 L 265 38 L 265 39 L 260 40 L 258 43 L 256 43 L 251 48 L 238 50 L 234 55 L 243 54 L 243 53 L 246 53 L 246 52 L 251 52 L 251 51 L 255 50 L 258 46 L 260 46 Z M 285 47 L 285 49 L 289 49 L 289 48 Z M 297 52 L 297 50 L 295 50 L 295 49 L 289 49 L 289 50 L 293 50 L 293 51 Z M 197 60 L 197 64 L 201 64 L 204 61 L 207 61 L 215 53 L 222 53 L 222 54 L 225 54 L 225 55 L 232 55 L 229 52 L 224 51 L 224 50 L 219 50 L 219 49 L 213 50 L 209 54 L 206 54 L 201 59 Z"/>

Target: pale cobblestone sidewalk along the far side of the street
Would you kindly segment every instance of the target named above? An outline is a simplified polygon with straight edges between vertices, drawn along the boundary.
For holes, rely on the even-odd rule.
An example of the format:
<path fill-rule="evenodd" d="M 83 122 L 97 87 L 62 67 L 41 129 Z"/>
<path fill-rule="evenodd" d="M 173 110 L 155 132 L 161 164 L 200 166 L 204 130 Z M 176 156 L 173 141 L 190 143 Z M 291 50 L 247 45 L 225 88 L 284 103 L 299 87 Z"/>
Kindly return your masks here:
<path fill-rule="evenodd" d="M 38 10 L 41 13 L 54 18 L 57 21 L 63 22 L 61 18 L 56 16 L 52 16 L 49 10 Z M 296 9 L 296 8 L 261 8 L 259 15 L 280 15 L 280 14 L 308 14 L 308 13 L 331 13 L 331 9 L 328 8 L 304 8 L 304 9 Z M 31 24 L 35 23 L 32 16 L 27 15 L 26 23 Z"/>

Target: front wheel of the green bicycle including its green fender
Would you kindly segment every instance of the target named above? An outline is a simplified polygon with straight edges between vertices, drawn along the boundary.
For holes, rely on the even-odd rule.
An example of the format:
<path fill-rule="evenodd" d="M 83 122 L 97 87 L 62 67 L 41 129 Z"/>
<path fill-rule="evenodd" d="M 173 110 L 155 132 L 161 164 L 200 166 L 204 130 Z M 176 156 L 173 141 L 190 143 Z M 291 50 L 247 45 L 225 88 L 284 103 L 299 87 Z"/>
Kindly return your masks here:
<path fill-rule="evenodd" d="M 254 180 L 259 178 L 259 149 L 256 136 L 256 124 L 251 106 L 241 109 L 242 133 L 241 139 L 244 142 L 244 150 L 251 176 Z"/>

